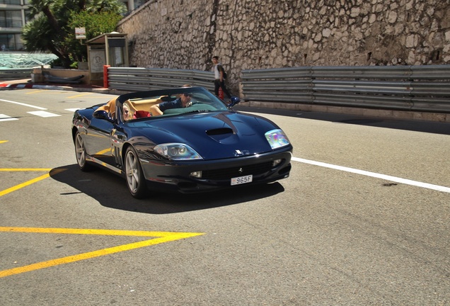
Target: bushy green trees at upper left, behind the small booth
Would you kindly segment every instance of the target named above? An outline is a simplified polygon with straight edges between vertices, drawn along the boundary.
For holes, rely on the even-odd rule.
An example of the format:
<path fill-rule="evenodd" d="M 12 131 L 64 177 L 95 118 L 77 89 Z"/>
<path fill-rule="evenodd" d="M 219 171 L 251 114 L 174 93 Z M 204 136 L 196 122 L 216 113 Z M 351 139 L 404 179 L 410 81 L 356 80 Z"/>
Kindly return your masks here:
<path fill-rule="evenodd" d="M 86 59 L 86 46 L 75 38 L 75 28 L 86 28 L 86 40 L 115 30 L 125 12 L 118 0 L 30 0 L 34 17 L 23 28 L 25 49 L 52 52 L 62 66 Z"/>

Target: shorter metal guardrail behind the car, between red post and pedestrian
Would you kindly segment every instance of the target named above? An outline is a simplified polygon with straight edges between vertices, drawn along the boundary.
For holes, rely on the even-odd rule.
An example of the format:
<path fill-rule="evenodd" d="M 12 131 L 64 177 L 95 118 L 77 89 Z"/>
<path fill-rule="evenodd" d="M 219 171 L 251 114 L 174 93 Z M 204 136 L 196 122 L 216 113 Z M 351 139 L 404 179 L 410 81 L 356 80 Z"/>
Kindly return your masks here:
<path fill-rule="evenodd" d="M 213 72 L 201 70 L 108 67 L 108 87 L 123 91 L 168 89 L 184 84 L 214 91 L 213 80 Z"/>

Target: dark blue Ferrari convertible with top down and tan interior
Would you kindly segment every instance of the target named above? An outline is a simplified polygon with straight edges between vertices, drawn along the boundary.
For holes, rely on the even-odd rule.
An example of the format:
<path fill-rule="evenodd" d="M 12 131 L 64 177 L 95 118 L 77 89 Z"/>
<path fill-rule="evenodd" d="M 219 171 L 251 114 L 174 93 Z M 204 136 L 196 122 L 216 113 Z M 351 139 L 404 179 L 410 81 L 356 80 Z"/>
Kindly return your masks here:
<path fill-rule="evenodd" d="M 194 193 L 289 176 L 292 145 L 272 121 L 233 111 L 202 87 L 141 91 L 74 113 L 81 171 L 103 166 L 129 192 Z M 161 115 L 162 114 L 162 115 Z"/>

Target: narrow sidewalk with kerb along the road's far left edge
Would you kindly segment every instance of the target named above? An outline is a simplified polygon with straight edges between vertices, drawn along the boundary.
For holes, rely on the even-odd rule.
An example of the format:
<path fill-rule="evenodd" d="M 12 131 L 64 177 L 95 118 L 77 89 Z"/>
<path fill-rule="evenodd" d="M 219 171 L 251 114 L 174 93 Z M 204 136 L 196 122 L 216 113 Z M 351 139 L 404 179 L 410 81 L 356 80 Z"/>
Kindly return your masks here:
<path fill-rule="evenodd" d="M 0 90 L 1 89 L 59 89 L 67 91 L 92 91 L 100 94 L 121 94 L 115 89 L 108 89 L 103 86 L 88 84 L 31 83 L 31 79 L 0 81 Z"/>

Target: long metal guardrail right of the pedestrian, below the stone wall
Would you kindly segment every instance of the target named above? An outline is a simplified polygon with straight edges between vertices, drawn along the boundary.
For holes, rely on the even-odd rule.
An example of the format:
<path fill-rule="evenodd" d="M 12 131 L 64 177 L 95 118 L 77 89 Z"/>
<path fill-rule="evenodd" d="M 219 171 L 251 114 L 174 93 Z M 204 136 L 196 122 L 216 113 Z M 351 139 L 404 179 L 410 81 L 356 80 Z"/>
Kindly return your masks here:
<path fill-rule="evenodd" d="M 243 70 L 250 101 L 450 113 L 450 65 Z"/>

